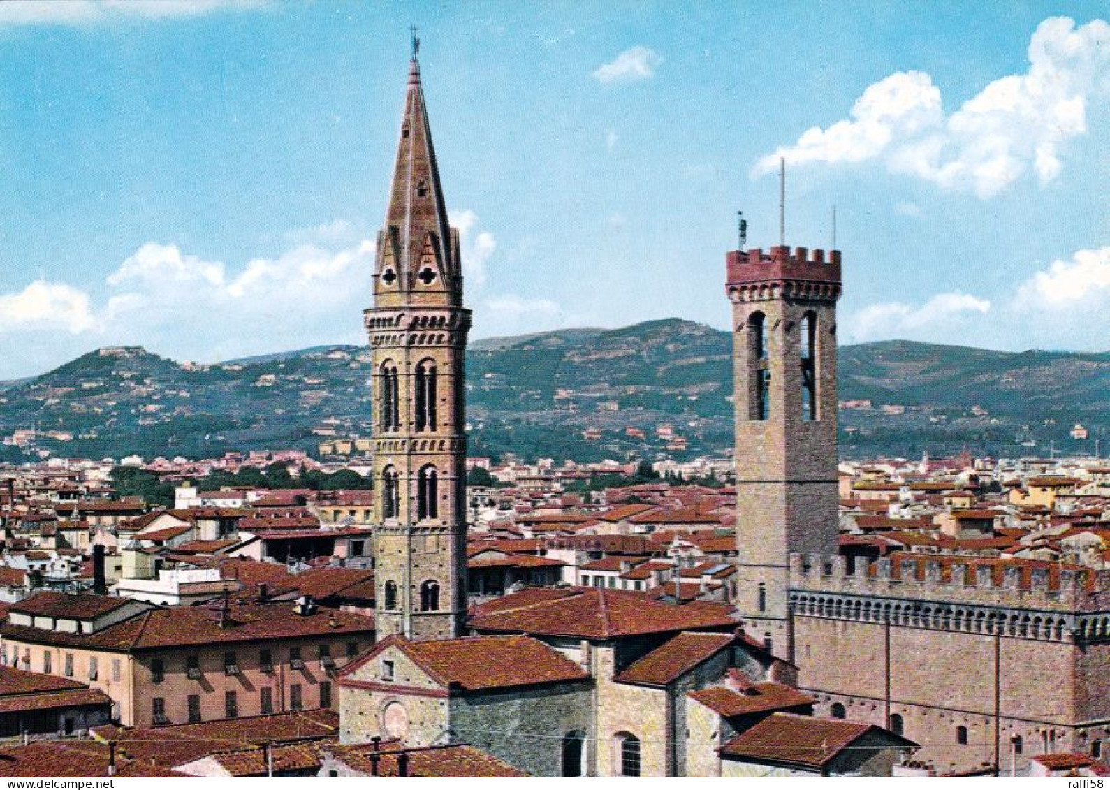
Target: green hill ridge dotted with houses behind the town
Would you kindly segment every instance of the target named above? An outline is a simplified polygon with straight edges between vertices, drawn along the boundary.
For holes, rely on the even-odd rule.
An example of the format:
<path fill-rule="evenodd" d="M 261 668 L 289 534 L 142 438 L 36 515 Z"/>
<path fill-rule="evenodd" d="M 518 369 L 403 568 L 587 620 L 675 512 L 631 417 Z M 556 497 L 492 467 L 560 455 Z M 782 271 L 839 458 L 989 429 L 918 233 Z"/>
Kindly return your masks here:
<path fill-rule="evenodd" d="M 369 364 L 366 348 L 343 345 L 214 365 L 98 350 L 0 385 L 0 459 L 315 450 L 334 436 L 370 435 Z M 838 374 L 849 406 L 839 412 L 840 448 L 850 457 L 965 446 L 1029 455 L 1051 443 L 1081 452 L 1091 443 L 1070 437 L 1073 424 L 1092 438 L 1110 428 L 1110 353 L 886 341 L 842 346 Z M 678 318 L 490 338 L 467 353 L 472 455 L 723 453 L 733 444 L 730 395 L 728 334 Z"/>

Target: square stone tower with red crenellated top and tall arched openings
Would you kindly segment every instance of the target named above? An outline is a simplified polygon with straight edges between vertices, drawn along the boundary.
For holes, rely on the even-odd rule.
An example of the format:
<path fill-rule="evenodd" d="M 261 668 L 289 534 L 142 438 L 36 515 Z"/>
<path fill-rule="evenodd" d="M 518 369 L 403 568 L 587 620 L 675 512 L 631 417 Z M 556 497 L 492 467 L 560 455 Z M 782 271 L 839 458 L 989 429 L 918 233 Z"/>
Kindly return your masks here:
<path fill-rule="evenodd" d="M 790 658 L 794 551 L 837 551 L 836 303 L 840 253 L 730 252 L 737 608 Z"/>

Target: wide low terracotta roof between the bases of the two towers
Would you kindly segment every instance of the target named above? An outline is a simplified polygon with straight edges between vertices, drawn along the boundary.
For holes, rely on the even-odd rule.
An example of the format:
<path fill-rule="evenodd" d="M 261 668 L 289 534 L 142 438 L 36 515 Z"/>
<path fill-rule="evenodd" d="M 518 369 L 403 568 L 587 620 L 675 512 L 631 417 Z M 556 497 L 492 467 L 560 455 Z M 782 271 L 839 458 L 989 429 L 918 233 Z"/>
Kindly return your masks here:
<path fill-rule="evenodd" d="M 675 605 L 650 595 L 598 587 L 525 589 L 486 601 L 470 625 L 480 631 L 609 639 L 736 627 L 733 607 L 694 601 Z"/>

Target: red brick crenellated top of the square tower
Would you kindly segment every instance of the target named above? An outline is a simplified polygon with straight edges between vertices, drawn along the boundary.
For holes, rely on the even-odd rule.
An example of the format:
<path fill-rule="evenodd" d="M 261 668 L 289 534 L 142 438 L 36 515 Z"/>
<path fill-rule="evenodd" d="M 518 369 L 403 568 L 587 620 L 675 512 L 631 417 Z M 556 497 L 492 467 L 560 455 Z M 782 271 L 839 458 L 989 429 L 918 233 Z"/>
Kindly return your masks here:
<path fill-rule="evenodd" d="M 840 251 L 774 246 L 763 250 L 736 250 L 725 255 L 726 290 L 729 295 L 755 287 L 781 285 L 803 286 L 814 297 L 836 300 L 840 296 Z M 814 286 L 820 286 L 815 288 Z M 791 288 L 794 290 L 794 288 Z"/>

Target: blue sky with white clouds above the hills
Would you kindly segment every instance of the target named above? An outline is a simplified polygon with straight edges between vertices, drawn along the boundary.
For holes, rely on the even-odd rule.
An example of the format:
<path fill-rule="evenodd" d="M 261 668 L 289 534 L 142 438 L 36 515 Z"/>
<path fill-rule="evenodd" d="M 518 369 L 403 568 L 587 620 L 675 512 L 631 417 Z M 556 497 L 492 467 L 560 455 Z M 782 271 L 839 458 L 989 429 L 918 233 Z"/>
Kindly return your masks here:
<path fill-rule="evenodd" d="M 0 3 L 0 377 L 362 343 L 408 26 L 475 336 L 726 327 L 828 246 L 845 342 L 1106 351 L 1102 3 Z"/>

